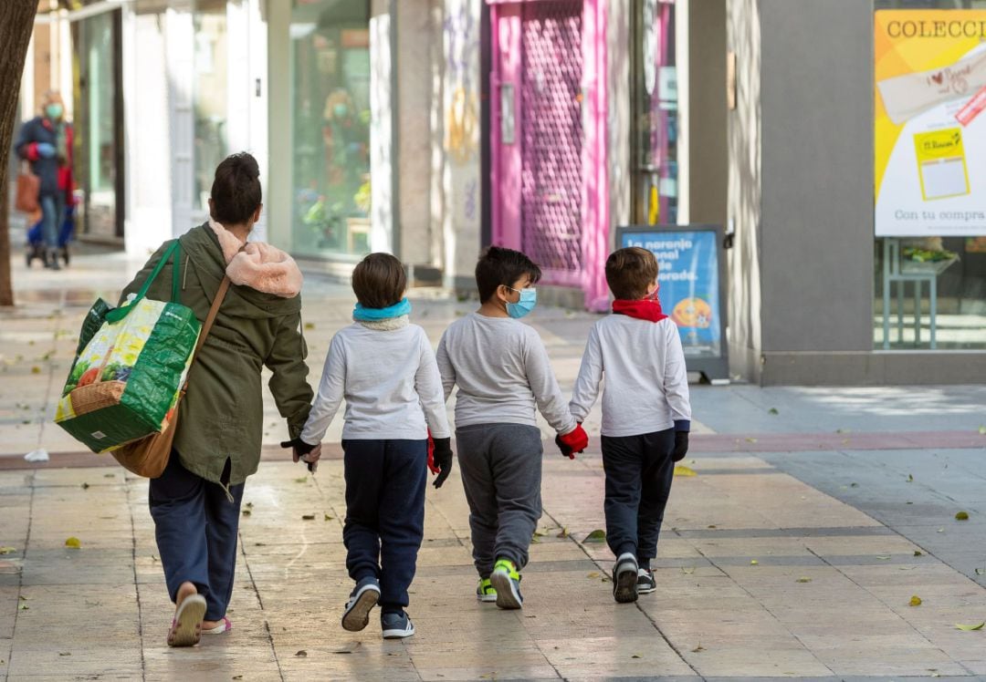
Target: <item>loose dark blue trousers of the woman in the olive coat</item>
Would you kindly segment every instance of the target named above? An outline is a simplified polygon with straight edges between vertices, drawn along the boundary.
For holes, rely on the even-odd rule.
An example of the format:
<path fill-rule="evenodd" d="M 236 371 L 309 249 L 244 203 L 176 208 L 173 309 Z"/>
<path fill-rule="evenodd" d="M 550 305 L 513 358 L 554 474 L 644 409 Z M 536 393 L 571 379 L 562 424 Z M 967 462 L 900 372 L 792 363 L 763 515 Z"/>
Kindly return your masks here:
<path fill-rule="evenodd" d="M 244 484 L 229 490 L 233 502 L 218 483 L 182 466 L 174 451 L 161 477 L 151 479 L 148 497 L 168 593 L 175 601 L 182 583 L 194 583 L 205 597 L 205 620 L 225 616 L 233 595 Z"/>

